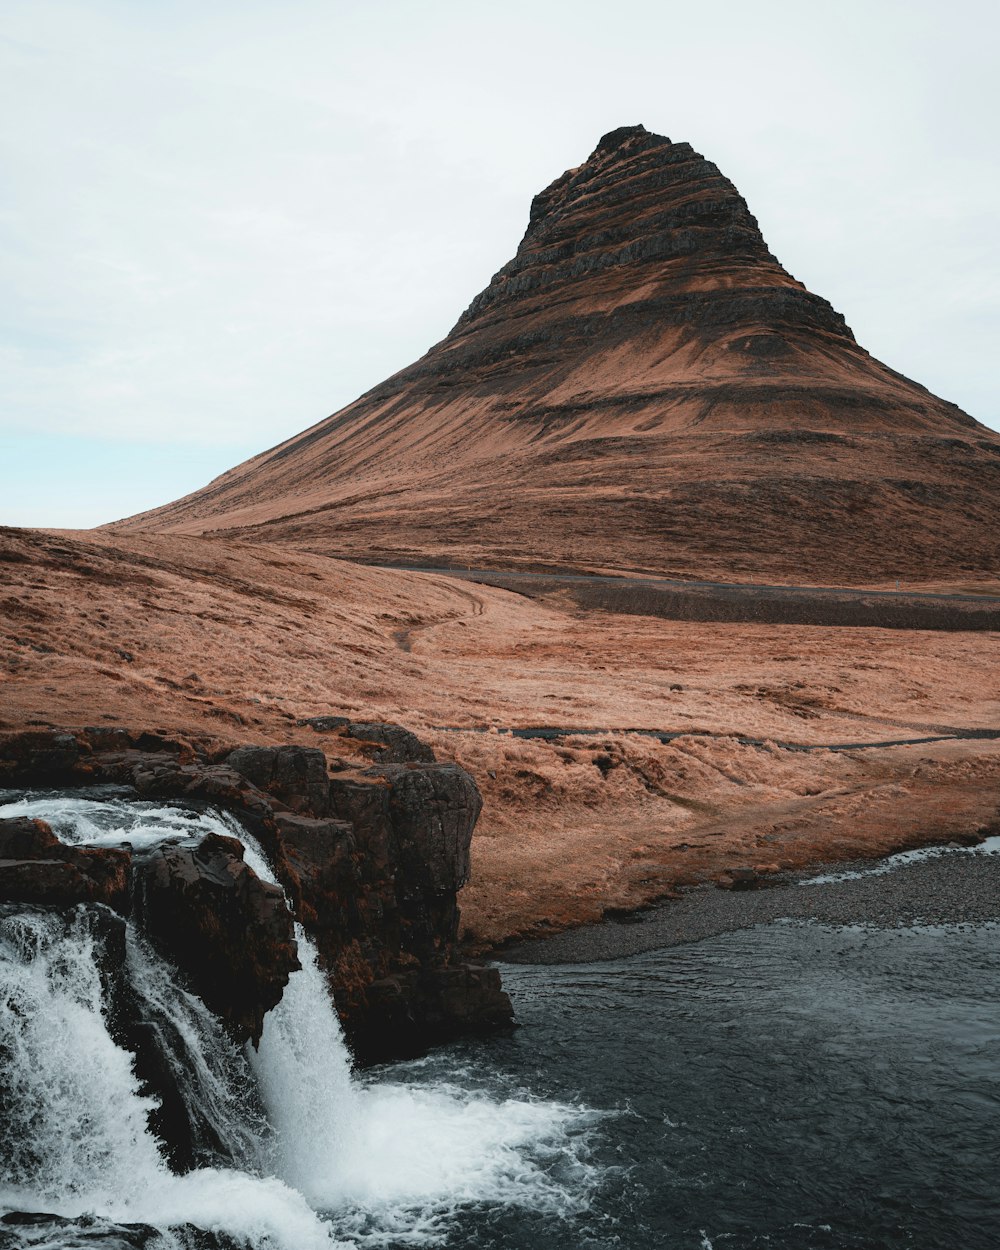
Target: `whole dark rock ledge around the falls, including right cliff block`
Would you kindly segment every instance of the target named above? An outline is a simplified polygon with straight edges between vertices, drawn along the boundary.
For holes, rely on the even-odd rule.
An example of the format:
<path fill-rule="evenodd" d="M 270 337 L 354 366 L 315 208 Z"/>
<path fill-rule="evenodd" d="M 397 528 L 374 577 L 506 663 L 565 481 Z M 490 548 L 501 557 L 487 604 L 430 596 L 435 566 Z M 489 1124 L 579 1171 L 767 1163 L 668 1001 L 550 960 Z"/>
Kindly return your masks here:
<path fill-rule="evenodd" d="M 385 741 L 399 752 L 408 738 L 390 729 Z M 0 785 L 39 781 L 128 784 L 145 798 L 234 812 L 268 851 L 314 938 L 359 1062 L 511 1024 L 496 970 L 464 961 L 456 949 L 456 895 L 481 806 L 460 768 L 411 761 L 329 774 L 318 749 L 211 754 L 116 729 L 0 739 Z M 132 856 L 64 846 L 39 821 L 4 825 L 0 901 L 134 909 L 230 1034 L 259 1038 L 298 962 L 281 891 L 256 878 L 239 842 L 210 836 L 198 848 Z"/>

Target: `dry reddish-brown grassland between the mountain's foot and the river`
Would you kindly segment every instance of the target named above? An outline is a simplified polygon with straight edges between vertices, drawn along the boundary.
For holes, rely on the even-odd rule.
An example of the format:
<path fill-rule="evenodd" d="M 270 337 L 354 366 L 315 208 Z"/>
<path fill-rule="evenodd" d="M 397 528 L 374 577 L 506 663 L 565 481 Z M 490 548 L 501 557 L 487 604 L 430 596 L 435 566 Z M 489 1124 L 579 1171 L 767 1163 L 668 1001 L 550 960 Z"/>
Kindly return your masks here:
<path fill-rule="evenodd" d="M 28 531 L 0 532 L 0 726 L 126 724 L 331 754 L 348 744 L 298 720 L 416 730 L 484 792 L 464 914 L 485 944 L 734 865 L 968 831 L 1000 796 L 996 742 L 794 754 L 731 736 L 1000 725 L 991 634 L 615 616 L 262 545 Z M 528 725 L 608 734 L 496 732 Z M 622 732 L 638 728 L 690 736 Z"/>

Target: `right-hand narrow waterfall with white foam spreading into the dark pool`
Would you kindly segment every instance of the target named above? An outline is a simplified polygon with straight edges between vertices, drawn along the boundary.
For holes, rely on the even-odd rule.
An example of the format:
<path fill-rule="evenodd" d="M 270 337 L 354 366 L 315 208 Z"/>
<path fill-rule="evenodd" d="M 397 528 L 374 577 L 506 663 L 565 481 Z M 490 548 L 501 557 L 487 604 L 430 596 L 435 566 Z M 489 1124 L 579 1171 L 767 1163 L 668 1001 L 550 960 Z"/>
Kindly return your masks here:
<path fill-rule="evenodd" d="M 222 818 L 226 819 L 226 818 Z M 246 862 L 274 872 L 244 830 Z M 278 1175 L 352 1239 L 426 1245 L 462 1206 L 549 1214 L 586 1205 L 594 1112 L 526 1096 L 498 1101 L 468 1082 L 352 1078 L 316 949 L 296 925 L 301 969 L 268 1014 L 251 1062 L 276 1136 Z"/>

